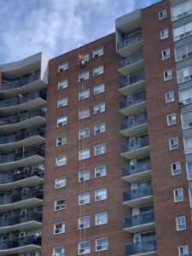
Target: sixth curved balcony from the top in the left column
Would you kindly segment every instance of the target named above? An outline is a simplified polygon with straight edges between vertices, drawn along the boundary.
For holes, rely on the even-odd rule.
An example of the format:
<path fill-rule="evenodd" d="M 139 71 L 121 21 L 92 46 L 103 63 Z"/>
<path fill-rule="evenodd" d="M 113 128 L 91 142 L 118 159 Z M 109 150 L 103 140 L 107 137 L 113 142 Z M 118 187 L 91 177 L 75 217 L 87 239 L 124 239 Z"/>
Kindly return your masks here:
<path fill-rule="evenodd" d="M 14 187 L 27 187 L 44 181 L 44 170 L 28 168 L 25 171 L 0 174 L 0 190 L 9 191 Z"/>

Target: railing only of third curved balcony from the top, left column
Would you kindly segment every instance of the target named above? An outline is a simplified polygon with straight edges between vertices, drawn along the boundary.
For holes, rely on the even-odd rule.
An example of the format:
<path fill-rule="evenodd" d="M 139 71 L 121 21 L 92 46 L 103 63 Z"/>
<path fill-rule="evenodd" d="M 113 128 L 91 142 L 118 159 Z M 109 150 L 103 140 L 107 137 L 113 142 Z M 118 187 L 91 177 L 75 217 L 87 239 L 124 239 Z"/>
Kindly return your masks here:
<path fill-rule="evenodd" d="M 19 115 L 10 116 L 10 117 L 0 117 L 0 125 L 13 125 L 24 121 L 26 119 L 32 119 L 36 116 L 41 116 L 44 119 L 46 118 L 46 111 L 42 109 L 33 109 L 26 113 L 20 113 Z"/>

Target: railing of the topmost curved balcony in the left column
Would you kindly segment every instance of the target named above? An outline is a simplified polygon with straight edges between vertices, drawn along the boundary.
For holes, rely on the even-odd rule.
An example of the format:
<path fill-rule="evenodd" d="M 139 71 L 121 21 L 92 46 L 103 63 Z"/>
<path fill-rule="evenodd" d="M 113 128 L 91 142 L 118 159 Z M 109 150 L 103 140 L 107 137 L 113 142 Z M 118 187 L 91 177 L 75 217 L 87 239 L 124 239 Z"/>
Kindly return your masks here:
<path fill-rule="evenodd" d="M 40 71 L 36 71 L 34 73 L 28 74 L 23 78 L 21 77 L 20 79 L 17 79 L 15 81 L 10 81 L 5 84 L 2 84 L 1 90 L 13 90 L 15 88 L 20 88 L 26 84 L 30 84 L 39 79 L 40 79 Z"/>

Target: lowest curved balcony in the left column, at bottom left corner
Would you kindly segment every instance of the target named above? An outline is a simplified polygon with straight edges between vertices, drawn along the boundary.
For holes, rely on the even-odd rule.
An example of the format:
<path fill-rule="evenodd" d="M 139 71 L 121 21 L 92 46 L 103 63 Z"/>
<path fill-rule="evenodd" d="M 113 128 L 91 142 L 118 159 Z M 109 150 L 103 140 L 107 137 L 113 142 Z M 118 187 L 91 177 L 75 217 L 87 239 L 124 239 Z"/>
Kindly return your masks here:
<path fill-rule="evenodd" d="M 24 236 L 13 240 L 0 241 L 1 256 L 26 253 L 40 249 L 41 236 Z"/>

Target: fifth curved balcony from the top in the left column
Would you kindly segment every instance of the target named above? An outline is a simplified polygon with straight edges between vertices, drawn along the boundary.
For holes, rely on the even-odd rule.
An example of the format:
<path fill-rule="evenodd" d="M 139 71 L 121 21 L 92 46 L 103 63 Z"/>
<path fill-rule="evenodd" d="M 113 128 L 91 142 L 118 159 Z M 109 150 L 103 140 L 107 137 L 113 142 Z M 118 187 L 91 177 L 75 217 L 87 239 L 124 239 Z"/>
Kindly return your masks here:
<path fill-rule="evenodd" d="M 0 154 L 1 171 L 11 171 L 21 166 L 30 166 L 44 161 L 44 148 L 42 145 L 26 148 L 20 153 Z"/>

